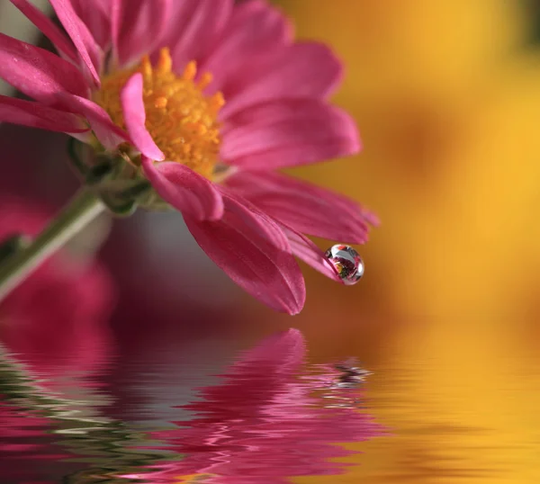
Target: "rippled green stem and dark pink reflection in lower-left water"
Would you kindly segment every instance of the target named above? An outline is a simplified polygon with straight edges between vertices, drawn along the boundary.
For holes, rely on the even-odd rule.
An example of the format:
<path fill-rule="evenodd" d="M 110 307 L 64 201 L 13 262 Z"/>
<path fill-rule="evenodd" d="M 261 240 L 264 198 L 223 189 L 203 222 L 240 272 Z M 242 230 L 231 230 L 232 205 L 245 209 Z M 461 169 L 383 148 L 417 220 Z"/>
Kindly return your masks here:
<path fill-rule="evenodd" d="M 0 345 L 2 484 L 125 482 L 119 476 L 127 470 L 162 458 L 138 450 L 148 445 L 143 433 L 105 415 L 107 396 L 99 388 L 73 381 L 78 399 L 69 399 L 32 374 Z"/>

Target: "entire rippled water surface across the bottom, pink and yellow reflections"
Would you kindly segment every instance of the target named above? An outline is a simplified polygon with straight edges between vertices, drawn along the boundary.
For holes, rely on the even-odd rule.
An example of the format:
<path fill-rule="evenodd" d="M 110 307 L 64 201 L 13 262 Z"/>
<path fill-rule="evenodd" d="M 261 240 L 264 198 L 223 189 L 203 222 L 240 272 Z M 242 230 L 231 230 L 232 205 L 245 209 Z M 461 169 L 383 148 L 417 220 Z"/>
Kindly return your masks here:
<path fill-rule="evenodd" d="M 540 482 L 536 353 L 410 341 L 365 381 L 291 331 L 93 364 L 4 353 L 0 482 Z"/>

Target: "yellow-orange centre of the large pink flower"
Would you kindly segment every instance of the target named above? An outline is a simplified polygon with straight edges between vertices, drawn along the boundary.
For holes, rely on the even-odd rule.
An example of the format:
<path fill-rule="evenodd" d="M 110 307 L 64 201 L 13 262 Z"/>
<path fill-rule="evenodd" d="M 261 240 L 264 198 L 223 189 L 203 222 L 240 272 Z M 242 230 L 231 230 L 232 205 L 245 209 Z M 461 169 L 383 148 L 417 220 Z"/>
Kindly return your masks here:
<path fill-rule="evenodd" d="M 202 93 L 211 83 L 211 74 L 205 73 L 195 82 L 194 61 L 187 64 L 181 76 L 176 76 L 171 67 L 171 56 L 166 48 L 160 50 L 155 67 L 145 56 L 139 66 L 105 76 L 101 89 L 94 94 L 94 101 L 109 113 L 115 124 L 125 129 L 120 92 L 130 76 L 140 72 L 144 80 L 146 128 L 166 160 L 182 163 L 212 178 L 220 150 L 217 117 L 225 103 L 223 95 Z"/>

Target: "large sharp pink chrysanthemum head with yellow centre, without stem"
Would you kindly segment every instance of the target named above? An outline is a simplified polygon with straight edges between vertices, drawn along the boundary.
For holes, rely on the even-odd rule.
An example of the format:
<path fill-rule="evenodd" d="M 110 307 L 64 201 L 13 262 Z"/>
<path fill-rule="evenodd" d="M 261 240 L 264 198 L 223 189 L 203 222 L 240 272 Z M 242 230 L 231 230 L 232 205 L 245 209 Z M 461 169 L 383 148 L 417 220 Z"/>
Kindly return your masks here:
<path fill-rule="evenodd" d="M 373 215 L 275 170 L 355 153 L 355 122 L 328 99 L 341 65 L 294 42 L 264 0 L 50 0 L 65 32 L 11 0 L 58 56 L 0 35 L 0 121 L 63 131 L 148 180 L 202 249 L 269 306 L 302 309 L 293 255 L 340 282 L 304 234 L 364 243 Z"/>

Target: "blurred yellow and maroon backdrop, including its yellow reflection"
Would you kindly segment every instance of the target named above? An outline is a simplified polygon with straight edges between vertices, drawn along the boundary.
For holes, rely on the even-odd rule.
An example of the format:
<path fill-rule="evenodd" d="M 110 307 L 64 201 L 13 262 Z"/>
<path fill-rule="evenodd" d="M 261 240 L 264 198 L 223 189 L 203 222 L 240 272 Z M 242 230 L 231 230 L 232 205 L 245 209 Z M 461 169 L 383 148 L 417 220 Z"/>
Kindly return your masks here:
<path fill-rule="evenodd" d="M 390 430 L 349 445 L 360 465 L 338 480 L 298 482 L 539 482 L 540 4 L 276 4 L 347 66 L 336 102 L 363 152 L 293 173 L 379 214 L 359 247 L 365 278 L 344 288 L 304 266 L 305 309 L 279 315 L 229 282 L 180 217 L 138 213 L 99 254 L 118 285 L 117 351 L 297 327 L 314 362 L 354 355 L 374 371 L 368 406 Z M 0 13 L 6 31 L 6 0 Z M 3 125 L 0 146 L 2 193 L 53 211 L 75 191 L 62 136 Z"/>

